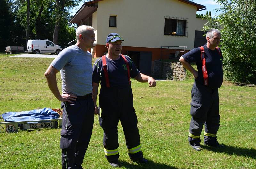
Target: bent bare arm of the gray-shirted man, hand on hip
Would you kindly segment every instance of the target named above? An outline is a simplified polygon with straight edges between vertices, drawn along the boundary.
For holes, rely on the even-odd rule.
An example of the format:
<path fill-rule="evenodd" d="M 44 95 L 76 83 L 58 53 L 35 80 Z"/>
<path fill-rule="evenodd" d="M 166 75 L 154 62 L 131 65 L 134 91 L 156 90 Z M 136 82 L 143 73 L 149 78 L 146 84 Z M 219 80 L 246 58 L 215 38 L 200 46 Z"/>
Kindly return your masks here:
<path fill-rule="evenodd" d="M 75 100 L 76 95 L 72 94 L 72 93 L 66 93 L 66 94 L 61 94 L 59 92 L 59 89 L 57 87 L 57 80 L 56 80 L 56 73 L 58 73 L 59 71 L 54 68 L 52 65 L 50 65 L 48 67 L 48 69 L 46 70 L 46 72 L 44 73 L 44 76 L 47 79 L 47 83 L 48 86 L 50 88 L 50 90 L 52 91 L 52 93 L 54 94 L 54 96 L 59 100 L 59 101 L 68 101 L 69 103 L 73 103 L 71 100 Z"/>

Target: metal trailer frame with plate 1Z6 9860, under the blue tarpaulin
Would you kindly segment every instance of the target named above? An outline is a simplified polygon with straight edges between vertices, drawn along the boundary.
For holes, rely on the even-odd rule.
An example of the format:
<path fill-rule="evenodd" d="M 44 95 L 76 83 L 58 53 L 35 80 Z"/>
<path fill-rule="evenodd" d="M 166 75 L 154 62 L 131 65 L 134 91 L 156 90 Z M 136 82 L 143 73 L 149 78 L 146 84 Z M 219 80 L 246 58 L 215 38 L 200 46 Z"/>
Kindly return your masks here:
<path fill-rule="evenodd" d="M 21 127 L 22 125 L 24 126 L 24 124 L 27 124 L 29 122 L 54 122 L 54 121 L 59 121 L 59 128 L 62 127 L 62 118 L 58 118 L 58 119 L 44 119 L 44 120 L 33 120 L 33 121 L 12 121 L 12 122 L 2 122 L 1 124 L 5 124 L 5 131 L 6 132 L 18 132 L 19 127 Z M 32 123 L 33 124 L 33 123 Z M 13 126 L 13 129 L 11 129 L 11 131 L 7 131 L 8 126 Z M 57 127 L 58 125 L 54 125 L 54 126 L 49 126 L 49 127 Z M 43 128 L 49 128 L 49 127 L 43 127 Z M 24 129 L 24 127 L 22 127 L 23 129 L 21 130 L 26 130 Z M 31 128 L 31 129 L 36 129 L 36 128 Z M 0 127 L 0 132 L 1 132 L 1 127 Z"/>

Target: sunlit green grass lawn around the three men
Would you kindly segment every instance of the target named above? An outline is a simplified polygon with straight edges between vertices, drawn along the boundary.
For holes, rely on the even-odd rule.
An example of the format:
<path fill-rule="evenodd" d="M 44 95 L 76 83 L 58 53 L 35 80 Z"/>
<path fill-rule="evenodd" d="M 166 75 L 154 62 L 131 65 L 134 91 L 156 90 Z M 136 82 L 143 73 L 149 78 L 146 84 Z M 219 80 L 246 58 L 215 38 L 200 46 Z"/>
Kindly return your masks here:
<path fill-rule="evenodd" d="M 49 90 L 44 72 L 53 59 L 13 58 L 0 54 L 0 114 L 44 107 L 60 108 Z M 94 59 L 95 61 L 95 59 Z M 57 83 L 61 89 L 60 73 Z M 132 80 L 134 108 L 146 165 L 131 162 L 119 124 L 119 153 L 126 169 L 253 169 L 256 168 L 256 90 L 224 82 L 219 89 L 220 129 L 224 149 L 188 145 L 190 99 L 193 79 L 157 81 L 155 88 Z M 0 120 L 3 122 L 3 120 Z M 4 125 L 2 125 L 4 127 Z M 103 130 L 95 116 L 84 169 L 111 168 L 104 157 Z M 203 135 L 201 135 L 203 140 Z M 61 168 L 60 129 L 0 133 L 0 169 Z"/>

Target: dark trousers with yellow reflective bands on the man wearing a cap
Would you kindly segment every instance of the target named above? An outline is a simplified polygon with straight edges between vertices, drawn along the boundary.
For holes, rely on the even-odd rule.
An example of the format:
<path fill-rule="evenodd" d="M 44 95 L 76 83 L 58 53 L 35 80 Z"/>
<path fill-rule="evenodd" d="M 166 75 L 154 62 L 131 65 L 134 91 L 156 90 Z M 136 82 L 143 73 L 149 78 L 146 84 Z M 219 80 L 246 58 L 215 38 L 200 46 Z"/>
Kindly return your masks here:
<path fill-rule="evenodd" d="M 119 120 L 123 127 L 128 152 L 129 149 L 138 151 L 128 153 L 129 157 L 132 160 L 143 157 L 131 86 L 124 89 L 101 87 L 99 104 L 101 109 L 99 122 L 104 131 L 103 145 L 107 160 L 113 162 L 119 158 L 117 133 Z"/>

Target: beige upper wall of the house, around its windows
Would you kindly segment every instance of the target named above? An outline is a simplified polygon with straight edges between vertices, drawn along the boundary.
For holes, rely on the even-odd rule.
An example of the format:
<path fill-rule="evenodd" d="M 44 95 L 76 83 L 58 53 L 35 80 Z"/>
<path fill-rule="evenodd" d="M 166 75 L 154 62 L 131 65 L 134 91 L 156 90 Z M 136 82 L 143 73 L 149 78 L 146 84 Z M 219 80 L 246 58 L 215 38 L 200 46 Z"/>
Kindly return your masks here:
<path fill-rule="evenodd" d="M 117 16 L 117 27 L 109 27 L 110 15 Z M 188 18 L 187 36 L 164 35 L 166 16 Z M 205 22 L 196 18 L 195 6 L 177 0 L 106 0 L 99 2 L 93 14 L 99 45 L 105 45 L 106 36 L 116 32 L 124 38 L 124 46 L 187 46 L 191 50 L 194 48 L 195 30 L 201 30 Z"/>

